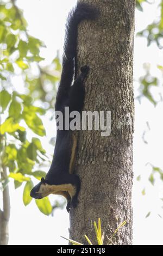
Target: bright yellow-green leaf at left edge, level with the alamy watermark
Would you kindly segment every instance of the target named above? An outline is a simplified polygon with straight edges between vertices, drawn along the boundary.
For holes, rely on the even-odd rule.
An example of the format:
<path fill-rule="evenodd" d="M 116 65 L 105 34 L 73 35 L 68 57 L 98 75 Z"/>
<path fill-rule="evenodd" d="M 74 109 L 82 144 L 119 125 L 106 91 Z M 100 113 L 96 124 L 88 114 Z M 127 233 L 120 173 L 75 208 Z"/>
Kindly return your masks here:
<path fill-rule="evenodd" d="M 4 121 L 2 125 L 0 125 L 0 134 L 4 134 L 5 132 L 12 133 L 17 130 L 25 131 L 26 129 L 19 124 L 14 123 L 14 118 L 10 117 Z"/>

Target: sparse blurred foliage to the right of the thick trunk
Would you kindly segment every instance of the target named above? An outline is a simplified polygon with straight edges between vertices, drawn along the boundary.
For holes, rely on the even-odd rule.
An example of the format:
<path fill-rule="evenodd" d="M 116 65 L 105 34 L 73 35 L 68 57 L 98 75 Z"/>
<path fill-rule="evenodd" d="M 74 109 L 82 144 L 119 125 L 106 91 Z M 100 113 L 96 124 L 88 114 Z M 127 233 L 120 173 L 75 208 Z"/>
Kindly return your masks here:
<path fill-rule="evenodd" d="M 154 3 L 154 2 L 149 2 L 146 0 L 137 0 L 136 1 L 136 7 L 137 9 L 143 11 L 143 4 L 147 3 Z M 156 45 L 159 47 L 159 49 L 162 49 L 163 45 L 163 1 L 159 1 L 158 9 L 160 11 L 160 15 L 157 17 L 156 20 L 154 20 L 151 24 L 149 24 L 145 29 L 137 33 L 138 36 L 141 36 L 143 38 L 147 39 L 147 46 L 151 46 L 153 42 L 156 43 Z M 150 64 L 144 64 L 144 68 L 146 70 L 146 74 L 142 77 L 140 77 L 139 82 L 140 82 L 140 95 L 137 97 L 137 99 L 141 99 L 142 96 L 146 97 L 151 103 L 156 106 L 159 101 L 156 101 L 154 98 L 154 95 L 152 94 L 151 89 L 154 87 L 158 87 L 160 84 L 160 81 L 158 80 L 157 77 L 152 76 L 150 74 Z M 162 65 L 157 65 L 157 68 L 162 72 L 163 68 Z M 160 101 L 162 100 L 162 95 L 160 93 Z M 142 136 L 143 141 L 147 143 L 147 141 L 144 139 L 144 136 Z M 152 185 L 155 184 L 155 175 L 156 173 L 159 173 L 160 179 L 163 181 L 163 171 L 159 167 L 154 167 L 152 164 L 152 172 L 149 175 L 149 182 L 151 182 Z M 137 181 L 140 181 L 141 176 L 139 175 L 137 177 Z M 142 190 L 142 195 L 145 196 L 146 190 L 143 188 Z M 151 214 L 151 212 L 148 212 L 146 215 L 146 218 Z M 160 216 L 160 215 L 159 215 Z"/>

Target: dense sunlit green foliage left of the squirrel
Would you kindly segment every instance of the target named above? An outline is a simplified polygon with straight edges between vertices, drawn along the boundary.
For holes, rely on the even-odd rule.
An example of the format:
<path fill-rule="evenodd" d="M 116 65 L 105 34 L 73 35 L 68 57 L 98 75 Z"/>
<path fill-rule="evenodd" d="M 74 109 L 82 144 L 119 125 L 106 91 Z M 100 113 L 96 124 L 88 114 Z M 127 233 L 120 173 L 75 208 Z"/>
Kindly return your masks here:
<path fill-rule="evenodd" d="M 44 59 L 40 50 L 45 45 L 27 33 L 27 22 L 15 0 L 0 4 L 0 47 L 1 164 L 9 170 L 8 179 L 1 179 L 2 190 L 9 179 L 14 180 L 15 188 L 24 184 L 23 203 L 28 205 L 32 178 L 45 176 L 40 170 L 42 160 L 49 164 L 40 141 L 46 135 L 42 116 L 53 108 L 61 65 L 58 57 L 48 66 L 39 64 Z M 36 205 L 43 214 L 51 214 L 48 198 Z"/>

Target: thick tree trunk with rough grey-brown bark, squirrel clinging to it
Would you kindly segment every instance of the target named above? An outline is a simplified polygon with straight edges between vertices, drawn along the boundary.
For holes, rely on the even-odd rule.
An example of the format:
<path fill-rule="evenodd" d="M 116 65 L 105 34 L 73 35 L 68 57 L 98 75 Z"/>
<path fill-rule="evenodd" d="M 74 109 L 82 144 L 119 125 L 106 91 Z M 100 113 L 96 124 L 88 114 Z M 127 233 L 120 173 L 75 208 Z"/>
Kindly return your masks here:
<path fill-rule="evenodd" d="M 104 244 L 132 242 L 133 43 L 135 0 L 83 0 L 95 5 L 97 21 L 79 26 L 78 66 L 90 66 L 84 111 L 111 111 L 111 134 L 80 131 L 76 173 L 82 186 L 79 205 L 70 214 L 70 239 L 97 244 L 93 221 L 101 218 Z M 106 115 L 105 115 L 106 117 Z M 107 238 L 109 237 L 109 239 Z"/>

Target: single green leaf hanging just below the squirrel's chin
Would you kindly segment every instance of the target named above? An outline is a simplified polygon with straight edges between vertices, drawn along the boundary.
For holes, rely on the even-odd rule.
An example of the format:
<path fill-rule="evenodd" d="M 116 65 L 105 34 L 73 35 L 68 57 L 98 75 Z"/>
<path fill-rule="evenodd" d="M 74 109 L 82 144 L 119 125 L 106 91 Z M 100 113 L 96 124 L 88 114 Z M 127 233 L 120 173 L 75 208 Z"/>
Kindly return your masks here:
<path fill-rule="evenodd" d="M 45 197 L 42 199 L 36 199 L 35 202 L 36 202 L 37 207 L 43 214 L 45 214 L 45 215 L 51 214 L 52 205 L 51 205 L 48 197 Z"/>

